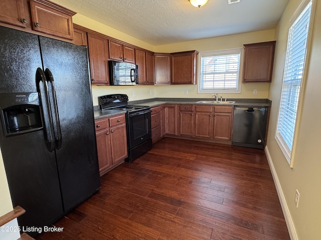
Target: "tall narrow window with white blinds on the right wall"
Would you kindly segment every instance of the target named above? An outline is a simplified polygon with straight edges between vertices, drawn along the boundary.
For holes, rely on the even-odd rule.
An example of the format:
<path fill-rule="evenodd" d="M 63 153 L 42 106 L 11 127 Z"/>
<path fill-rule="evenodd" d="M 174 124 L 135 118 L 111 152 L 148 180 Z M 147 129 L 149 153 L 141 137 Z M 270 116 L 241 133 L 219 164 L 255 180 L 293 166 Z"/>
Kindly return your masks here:
<path fill-rule="evenodd" d="M 294 19 L 290 26 L 283 75 L 279 115 L 276 128 L 276 140 L 287 161 L 291 163 L 297 122 L 300 89 L 304 75 L 307 52 L 307 37 L 312 0 Z"/>

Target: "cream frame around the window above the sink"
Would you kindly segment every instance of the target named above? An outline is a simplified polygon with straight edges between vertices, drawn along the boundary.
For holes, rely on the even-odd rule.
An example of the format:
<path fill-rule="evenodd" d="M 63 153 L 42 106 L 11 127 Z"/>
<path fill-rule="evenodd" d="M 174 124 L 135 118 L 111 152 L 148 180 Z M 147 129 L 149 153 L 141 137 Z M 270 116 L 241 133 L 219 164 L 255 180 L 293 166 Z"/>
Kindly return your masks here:
<path fill-rule="evenodd" d="M 220 55 L 228 55 L 228 54 L 237 54 L 240 53 L 240 64 L 239 64 L 239 72 L 238 72 L 238 79 L 237 79 L 237 90 L 229 90 L 229 89 L 201 89 L 201 62 L 202 62 L 202 57 L 206 56 L 220 56 Z M 200 69 L 198 70 L 197 73 L 197 92 L 198 93 L 241 93 L 241 85 L 242 85 L 242 77 L 243 77 L 243 52 L 244 49 L 243 47 L 237 47 L 237 48 L 230 48 L 230 49 L 222 49 L 222 50 L 211 50 L 211 51 L 202 51 L 199 52 L 198 60 L 197 60 L 197 68 Z"/>

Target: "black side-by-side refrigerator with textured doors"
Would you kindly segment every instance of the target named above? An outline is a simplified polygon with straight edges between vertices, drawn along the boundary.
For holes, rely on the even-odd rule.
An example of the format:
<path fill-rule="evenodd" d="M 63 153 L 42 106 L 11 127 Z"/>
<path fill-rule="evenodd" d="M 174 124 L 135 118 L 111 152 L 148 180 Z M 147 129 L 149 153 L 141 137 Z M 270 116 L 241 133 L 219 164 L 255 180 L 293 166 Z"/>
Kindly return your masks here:
<path fill-rule="evenodd" d="M 26 210 L 22 229 L 43 227 L 100 187 L 87 47 L 0 26 L 0 56 L 0 147 L 13 205 Z"/>

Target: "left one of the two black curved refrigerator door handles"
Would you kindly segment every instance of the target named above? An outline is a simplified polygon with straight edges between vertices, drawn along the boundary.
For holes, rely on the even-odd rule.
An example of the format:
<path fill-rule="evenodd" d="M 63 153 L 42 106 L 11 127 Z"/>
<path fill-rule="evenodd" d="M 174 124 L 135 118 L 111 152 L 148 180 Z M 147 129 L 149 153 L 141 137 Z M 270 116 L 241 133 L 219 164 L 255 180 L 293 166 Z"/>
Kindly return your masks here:
<path fill-rule="evenodd" d="M 45 73 L 40 67 L 38 67 L 36 71 L 36 83 L 43 111 L 45 142 L 48 150 L 52 152 L 55 149 L 55 142 L 53 140 L 54 130 L 51 117 L 51 110 L 49 107 L 50 103 L 48 96 L 48 87 L 46 86 Z"/>

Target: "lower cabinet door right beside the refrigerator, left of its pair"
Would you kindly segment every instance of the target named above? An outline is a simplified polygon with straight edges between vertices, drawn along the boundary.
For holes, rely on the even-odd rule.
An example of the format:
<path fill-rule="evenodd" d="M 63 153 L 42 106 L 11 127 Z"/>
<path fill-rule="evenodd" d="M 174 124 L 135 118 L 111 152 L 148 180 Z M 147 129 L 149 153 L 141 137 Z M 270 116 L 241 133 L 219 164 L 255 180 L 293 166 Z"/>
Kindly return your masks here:
<path fill-rule="evenodd" d="M 112 166 L 109 128 L 96 131 L 98 163 L 100 175 Z"/>

